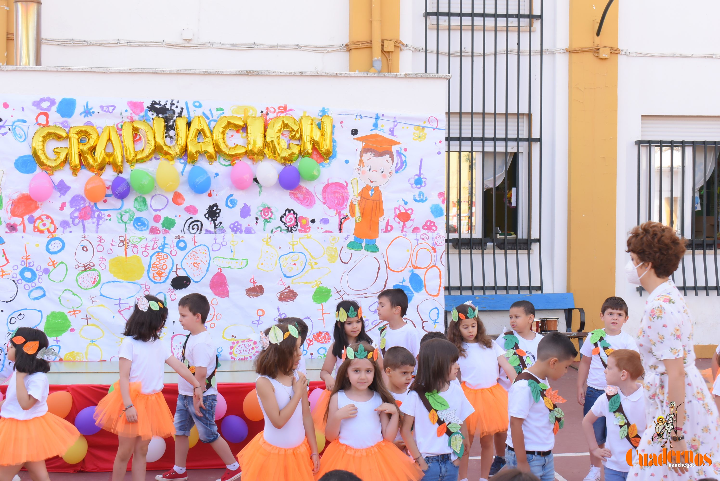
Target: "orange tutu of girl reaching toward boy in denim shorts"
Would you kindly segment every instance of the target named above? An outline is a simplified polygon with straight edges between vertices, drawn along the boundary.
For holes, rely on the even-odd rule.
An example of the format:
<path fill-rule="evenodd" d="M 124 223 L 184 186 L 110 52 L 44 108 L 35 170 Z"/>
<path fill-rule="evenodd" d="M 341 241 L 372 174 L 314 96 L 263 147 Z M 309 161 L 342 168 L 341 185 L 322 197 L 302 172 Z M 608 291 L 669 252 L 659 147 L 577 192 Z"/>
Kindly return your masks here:
<path fill-rule="evenodd" d="M 140 392 L 140 382 L 130 383 L 130 400 L 138 411 L 138 422 L 128 423 L 122 410 L 120 382 L 116 382 L 115 389 L 103 397 L 95 409 L 95 423 L 118 436 L 142 439 L 152 439 L 153 436 L 169 438 L 175 433 L 173 414 L 165 402 L 162 392 L 143 394 Z"/>

